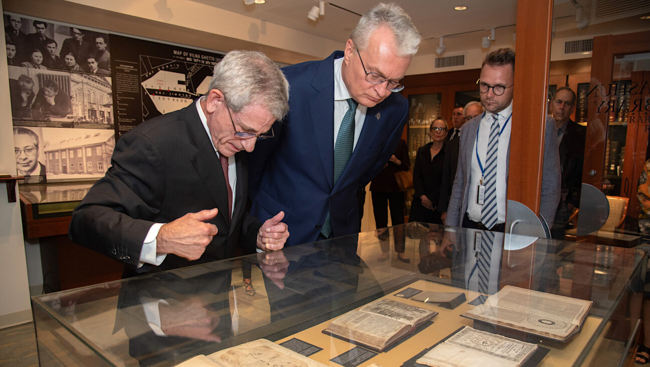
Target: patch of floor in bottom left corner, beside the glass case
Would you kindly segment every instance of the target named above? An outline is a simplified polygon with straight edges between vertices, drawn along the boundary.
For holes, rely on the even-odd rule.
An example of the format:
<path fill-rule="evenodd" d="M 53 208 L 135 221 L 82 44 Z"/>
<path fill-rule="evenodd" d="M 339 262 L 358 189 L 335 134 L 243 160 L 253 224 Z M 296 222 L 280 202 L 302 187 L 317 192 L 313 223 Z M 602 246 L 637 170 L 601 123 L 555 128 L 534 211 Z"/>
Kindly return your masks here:
<path fill-rule="evenodd" d="M 38 366 L 33 322 L 0 329 L 0 366 Z"/>

